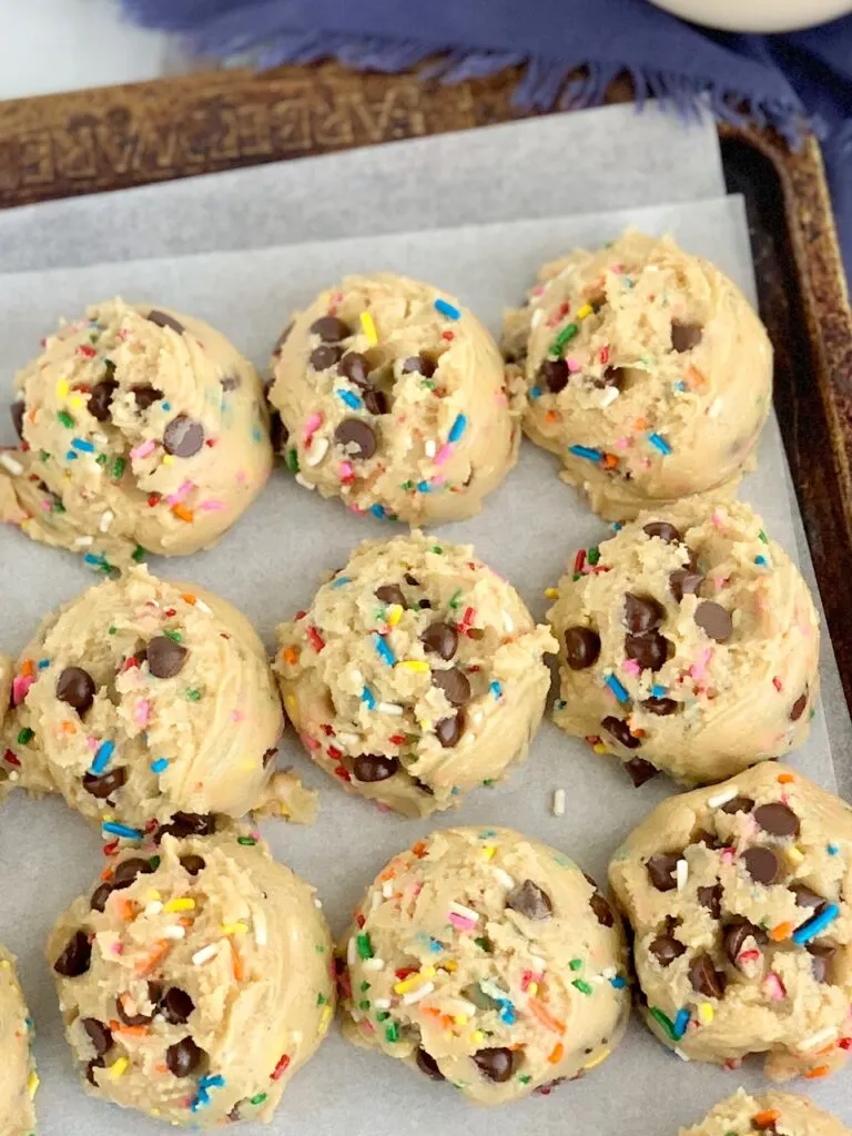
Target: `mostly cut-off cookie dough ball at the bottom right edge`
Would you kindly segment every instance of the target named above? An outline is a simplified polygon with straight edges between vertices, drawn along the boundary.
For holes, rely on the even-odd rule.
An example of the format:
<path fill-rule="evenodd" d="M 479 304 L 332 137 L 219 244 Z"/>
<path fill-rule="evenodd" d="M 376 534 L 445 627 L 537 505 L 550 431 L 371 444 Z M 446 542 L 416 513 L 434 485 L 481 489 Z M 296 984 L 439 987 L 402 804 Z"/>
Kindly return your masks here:
<path fill-rule="evenodd" d="M 682 1128 L 679 1136 L 850 1136 L 850 1129 L 803 1096 L 762 1093 L 749 1096 L 744 1088 L 711 1109 L 700 1125 Z"/>

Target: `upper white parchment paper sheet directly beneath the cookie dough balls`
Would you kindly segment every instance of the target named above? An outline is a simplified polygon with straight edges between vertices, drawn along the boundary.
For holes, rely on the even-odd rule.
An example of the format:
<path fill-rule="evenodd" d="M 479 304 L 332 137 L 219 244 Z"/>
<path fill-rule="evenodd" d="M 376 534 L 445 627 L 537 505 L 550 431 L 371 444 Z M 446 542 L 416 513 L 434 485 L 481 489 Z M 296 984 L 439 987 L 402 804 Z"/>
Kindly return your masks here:
<path fill-rule="evenodd" d="M 504 306 L 517 302 L 538 264 L 575 244 L 596 245 L 628 223 L 670 232 L 687 249 L 712 257 L 753 298 L 747 229 L 742 201 L 469 226 L 453 231 L 361 237 L 291 245 L 247 253 L 210 253 L 81 269 L 0 277 L 0 385 L 37 350 L 39 336 L 60 314 L 75 314 L 83 298 L 120 292 L 185 308 L 220 327 L 265 367 L 289 310 L 345 272 L 390 269 L 427 278 L 469 304 L 495 332 Z M 6 429 L 6 426 L 3 426 Z M 2 440 L 11 441 L 8 434 Z M 765 432 L 760 468 L 743 495 L 762 512 L 767 528 L 794 552 L 794 528 L 785 485 L 785 462 L 775 420 Z M 323 501 L 276 471 L 266 492 L 222 544 L 179 561 L 152 561 L 165 576 L 211 587 L 241 607 L 272 644 L 277 621 L 309 602 L 320 573 L 339 567 L 366 536 L 390 535 L 393 526 L 357 518 L 339 502 Z M 558 482 L 554 459 L 525 441 L 518 468 L 486 502 L 484 513 L 444 526 L 443 538 L 471 541 L 478 554 L 519 588 L 536 616 L 546 607 L 545 586 L 560 575 L 579 545 L 607 534 L 607 526 Z M 44 610 L 91 583 L 70 556 L 35 545 L 17 532 L 0 531 L 6 568 L 0 600 L 0 643 L 20 649 Z M 264 826 L 276 855 L 315 884 L 333 930 L 345 925 L 362 888 L 385 861 L 433 827 L 506 824 L 548 841 L 599 879 L 626 833 L 671 787 L 662 779 L 634 790 L 616 762 L 545 724 L 526 763 L 509 780 L 474 793 L 452 815 L 407 821 L 350 799 L 316 769 L 287 738 L 283 761 L 321 791 L 321 812 L 309 829 L 281 821 Z M 827 786 L 834 784 L 825 716 L 813 720 L 809 742 L 794 763 Z M 568 811 L 550 812 L 556 787 L 567 790 Z M 12 796 L 0 813 L 0 938 L 22 959 L 36 1021 L 42 1136 L 144 1136 L 164 1129 L 147 1118 L 118 1113 L 82 1093 L 61 1037 L 52 982 L 42 944 L 58 911 L 89 887 L 99 868 L 99 840 L 59 801 Z M 815 1099 L 846 1120 L 845 1078 L 816 1085 Z M 468 1105 L 451 1088 L 437 1087 L 381 1054 L 366 1054 L 333 1031 L 318 1055 L 294 1079 L 270 1129 L 352 1136 L 453 1131 L 509 1136 L 518 1125 L 541 1136 L 600 1136 L 629 1131 L 660 1136 L 698 1120 L 737 1084 L 758 1088 L 755 1070 L 737 1075 L 684 1064 L 634 1022 L 615 1055 L 590 1077 L 549 1097 L 533 1097 L 498 1112 Z M 258 1130 L 245 1126 L 247 1134 Z"/>

